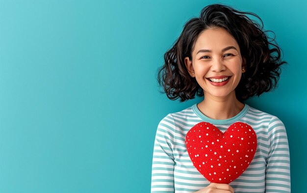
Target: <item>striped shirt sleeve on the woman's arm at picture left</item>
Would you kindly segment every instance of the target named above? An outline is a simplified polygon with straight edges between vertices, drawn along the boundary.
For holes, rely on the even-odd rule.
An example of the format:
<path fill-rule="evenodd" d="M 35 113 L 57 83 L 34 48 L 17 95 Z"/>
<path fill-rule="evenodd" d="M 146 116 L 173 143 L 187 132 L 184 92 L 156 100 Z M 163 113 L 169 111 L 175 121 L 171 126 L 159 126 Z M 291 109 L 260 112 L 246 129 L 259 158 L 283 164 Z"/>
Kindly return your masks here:
<path fill-rule="evenodd" d="M 175 192 L 174 134 L 174 119 L 168 114 L 160 121 L 154 139 L 151 193 Z"/>

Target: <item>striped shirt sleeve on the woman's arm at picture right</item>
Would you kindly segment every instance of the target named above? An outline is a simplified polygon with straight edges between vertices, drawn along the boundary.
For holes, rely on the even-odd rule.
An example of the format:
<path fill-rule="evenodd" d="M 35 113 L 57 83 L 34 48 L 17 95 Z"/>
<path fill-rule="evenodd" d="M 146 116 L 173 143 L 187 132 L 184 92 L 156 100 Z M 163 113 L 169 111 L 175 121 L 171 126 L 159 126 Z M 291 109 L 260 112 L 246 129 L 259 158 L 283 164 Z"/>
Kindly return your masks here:
<path fill-rule="evenodd" d="M 270 151 L 267 158 L 266 193 L 290 193 L 290 157 L 285 127 L 275 116 L 269 123 Z"/>

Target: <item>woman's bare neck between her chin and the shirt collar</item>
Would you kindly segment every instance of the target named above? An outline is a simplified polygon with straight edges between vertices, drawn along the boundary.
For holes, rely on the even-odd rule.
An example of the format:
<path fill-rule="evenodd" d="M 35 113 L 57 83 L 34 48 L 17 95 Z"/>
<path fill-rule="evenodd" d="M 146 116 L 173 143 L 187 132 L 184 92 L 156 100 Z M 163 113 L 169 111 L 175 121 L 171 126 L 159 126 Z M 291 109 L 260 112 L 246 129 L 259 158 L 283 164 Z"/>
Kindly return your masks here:
<path fill-rule="evenodd" d="M 197 105 L 198 109 L 212 119 L 229 119 L 237 115 L 244 108 L 244 104 L 238 101 L 235 93 L 225 98 L 216 98 L 205 95 L 204 101 Z"/>

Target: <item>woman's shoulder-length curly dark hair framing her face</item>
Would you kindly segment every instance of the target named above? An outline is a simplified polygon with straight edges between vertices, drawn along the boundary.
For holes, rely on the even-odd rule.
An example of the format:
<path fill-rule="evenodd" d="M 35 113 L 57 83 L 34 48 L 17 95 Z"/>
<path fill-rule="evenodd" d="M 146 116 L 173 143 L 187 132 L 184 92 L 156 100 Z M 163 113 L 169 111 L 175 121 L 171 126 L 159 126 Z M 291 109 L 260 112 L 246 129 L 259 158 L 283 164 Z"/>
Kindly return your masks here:
<path fill-rule="evenodd" d="M 258 18 L 261 25 L 247 17 L 247 14 Z M 245 58 L 246 72 L 235 88 L 239 101 L 259 96 L 277 86 L 280 66 L 287 62 L 281 61 L 281 49 L 275 37 L 272 39 L 266 34 L 270 30 L 262 30 L 263 22 L 259 16 L 227 5 L 211 4 L 202 9 L 199 18 L 192 18 L 185 23 L 179 38 L 164 55 L 165 63 L 158 69 L 157 80 L 164 88 L 162 93 L 166 93 L 169 99 L 180 98 L 180 102 L 183 102 L 195 98 L 195 94 L 204 95 L 202 87 L 189 75 L 184 58 L 192 60 L 195 42 L 199 34 L 208 28 L 225 28 L 237 41 L 242 58 Z M 269 45 L 273 48 L 270 49 Z"/>

